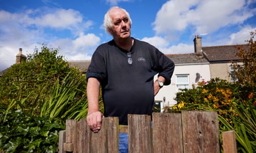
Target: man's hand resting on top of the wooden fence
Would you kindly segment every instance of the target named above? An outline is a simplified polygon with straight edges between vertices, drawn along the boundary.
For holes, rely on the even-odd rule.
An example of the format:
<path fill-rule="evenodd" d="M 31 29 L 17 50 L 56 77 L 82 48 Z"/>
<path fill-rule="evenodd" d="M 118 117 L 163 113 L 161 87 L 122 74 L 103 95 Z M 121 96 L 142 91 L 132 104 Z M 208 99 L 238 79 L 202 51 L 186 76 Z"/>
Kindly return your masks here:
<path fill-rule="evenodd" d="M 86 121 L 93 132 L 98 132 L 100 130 L 102 117 L 104 116 L 100 111 L 88 113 Z"/>

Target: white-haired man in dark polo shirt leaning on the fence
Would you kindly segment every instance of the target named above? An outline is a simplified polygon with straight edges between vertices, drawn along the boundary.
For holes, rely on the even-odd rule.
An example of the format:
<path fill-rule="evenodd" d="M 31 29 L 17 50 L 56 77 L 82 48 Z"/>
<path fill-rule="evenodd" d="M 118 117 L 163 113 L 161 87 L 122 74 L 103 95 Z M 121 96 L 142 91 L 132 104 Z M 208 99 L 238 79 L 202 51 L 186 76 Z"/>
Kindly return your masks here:
<path fill-rule="evenodd" d="M 113 40 L 95 50 L 86 78 L 86 120 L 94 132 L 104 116 L 118 116 L 119 124 L 127 125 L 128 114 L 151 115 L 154 96 L 171 82 L 174 63 L 154 46 L 132 38 L 131 23 L 123 8 L 112 7 L 105 14 L 104 25 Z M 100 86 L 104 115 L 99 111 Z"/>

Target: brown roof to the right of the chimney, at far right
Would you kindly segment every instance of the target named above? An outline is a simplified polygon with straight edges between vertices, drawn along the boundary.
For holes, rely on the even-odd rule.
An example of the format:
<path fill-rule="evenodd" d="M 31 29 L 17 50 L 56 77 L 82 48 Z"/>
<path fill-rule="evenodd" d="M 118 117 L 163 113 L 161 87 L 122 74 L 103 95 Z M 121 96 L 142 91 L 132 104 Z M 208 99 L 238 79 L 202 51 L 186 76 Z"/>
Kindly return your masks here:
<path fill-rule="evenodd" d="M 247 50 L 248 45 L 226 45 L 226 46 L 212 46 L 202 47 L 203 54 L 210 63 L 222 63 L 228 61 L 238 61 L 236 56 L 238 48 L 243 47 Z"/>

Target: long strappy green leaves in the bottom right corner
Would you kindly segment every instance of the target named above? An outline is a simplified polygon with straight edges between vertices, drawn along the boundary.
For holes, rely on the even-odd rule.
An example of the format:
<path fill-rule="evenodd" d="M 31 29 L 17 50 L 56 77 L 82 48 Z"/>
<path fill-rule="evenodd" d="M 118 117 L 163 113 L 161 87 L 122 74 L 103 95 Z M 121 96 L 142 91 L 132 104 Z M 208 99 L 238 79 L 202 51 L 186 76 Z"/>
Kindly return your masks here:
<path fill-rule="evenodd" d="M 236 114 L 232 116 L 232 124 L 219 115 L 220 122 L 225 125 L 220 126 L 221 130 L 235 131 L 239 152 L 256 151 L 256 106 L 252 105 L 253 99 L 255 100 L 255 98 L 237 100 L 236 105 L 233 106 Z"/>

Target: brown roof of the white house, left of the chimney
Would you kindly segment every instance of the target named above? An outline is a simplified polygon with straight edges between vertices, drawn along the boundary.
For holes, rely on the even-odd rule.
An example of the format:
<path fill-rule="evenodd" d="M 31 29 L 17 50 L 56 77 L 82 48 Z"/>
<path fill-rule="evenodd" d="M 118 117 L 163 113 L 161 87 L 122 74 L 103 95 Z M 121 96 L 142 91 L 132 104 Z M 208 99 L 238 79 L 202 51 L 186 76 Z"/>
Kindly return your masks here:
<path fill-rule="evenodd" d="M 209 63 L 203 54 L 173 54 L 166 55 L 175 64 L 196 64 L 196 63 Z"/>

